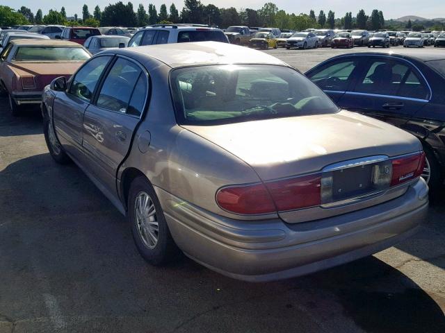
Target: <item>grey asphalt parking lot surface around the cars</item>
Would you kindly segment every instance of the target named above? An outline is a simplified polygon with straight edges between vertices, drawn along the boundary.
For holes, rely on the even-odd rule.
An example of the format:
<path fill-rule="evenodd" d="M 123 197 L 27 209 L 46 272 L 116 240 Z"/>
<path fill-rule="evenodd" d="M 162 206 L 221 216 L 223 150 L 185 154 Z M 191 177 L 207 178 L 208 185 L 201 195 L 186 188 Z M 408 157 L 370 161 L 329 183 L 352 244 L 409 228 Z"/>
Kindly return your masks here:
<path fill-rule="evenodd" d="M 350 50 L 267 52 L 306 71 Z M 414 237 L 302 278 L 251 284 L 185 257 L 156 268 L 82 171 L 51 160 L 38 108 L 13 118 L 4 98 L 0 194 L 0 333 L 445 332 L 445 198 Z"/>

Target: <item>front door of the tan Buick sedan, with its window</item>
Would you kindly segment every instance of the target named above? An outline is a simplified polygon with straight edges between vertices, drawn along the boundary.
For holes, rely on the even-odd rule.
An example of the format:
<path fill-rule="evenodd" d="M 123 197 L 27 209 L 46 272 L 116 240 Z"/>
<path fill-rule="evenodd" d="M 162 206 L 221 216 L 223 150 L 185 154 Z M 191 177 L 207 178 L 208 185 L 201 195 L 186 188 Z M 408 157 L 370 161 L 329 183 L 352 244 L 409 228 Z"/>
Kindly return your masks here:
<path fill-rule="evenodd" d="M 111 56 L 99 56 L 86 62 L 66 92 L 58 92 L 53 103 L 54 128 L 65 151 L 81 162 L 83 114 Z"/>

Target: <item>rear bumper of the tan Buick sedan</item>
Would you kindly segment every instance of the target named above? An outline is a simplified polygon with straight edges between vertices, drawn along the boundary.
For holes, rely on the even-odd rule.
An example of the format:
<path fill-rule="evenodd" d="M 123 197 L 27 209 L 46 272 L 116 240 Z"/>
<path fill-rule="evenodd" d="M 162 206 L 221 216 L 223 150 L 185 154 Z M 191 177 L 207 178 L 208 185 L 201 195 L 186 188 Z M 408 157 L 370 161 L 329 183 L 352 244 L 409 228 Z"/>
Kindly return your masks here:
<path fill-rule="evenodd" d="M 386 203 L 294 224 L 227 219 L 156 192 L 172 236 L 188 257 L 252 282 L 292 278 L 372 255 L 414 234 L 428 212 L 423 180 Z"/>

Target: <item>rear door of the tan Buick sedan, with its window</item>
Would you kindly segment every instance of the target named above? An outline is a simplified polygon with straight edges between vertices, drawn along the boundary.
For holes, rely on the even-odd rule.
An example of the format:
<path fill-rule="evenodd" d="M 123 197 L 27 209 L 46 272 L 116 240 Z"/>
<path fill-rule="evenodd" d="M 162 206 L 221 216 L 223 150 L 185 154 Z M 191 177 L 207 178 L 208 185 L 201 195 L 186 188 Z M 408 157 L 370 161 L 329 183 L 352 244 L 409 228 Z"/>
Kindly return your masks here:
<path fill-rule="evenodd" d="M 127 58 L 116 58 L 83 117 L 83 150 L 88 169 L 111 193 L 118 167 L 131 146 L 147 100 L 145 69 Z"/>

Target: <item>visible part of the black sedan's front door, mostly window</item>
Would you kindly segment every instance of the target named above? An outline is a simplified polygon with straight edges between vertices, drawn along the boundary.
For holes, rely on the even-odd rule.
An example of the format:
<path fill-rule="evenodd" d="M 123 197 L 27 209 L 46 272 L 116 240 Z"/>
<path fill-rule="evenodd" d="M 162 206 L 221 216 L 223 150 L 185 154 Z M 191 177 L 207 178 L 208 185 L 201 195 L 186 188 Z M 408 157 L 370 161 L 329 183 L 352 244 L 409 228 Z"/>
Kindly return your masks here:
<path fill-rule="evenodd" d="M 332 101 L 338 103 L 341 96 L 353 84 L 363 62 L 362 57 L 341 57 L 310 69 L 306 76 L 323 89 Z"/>

